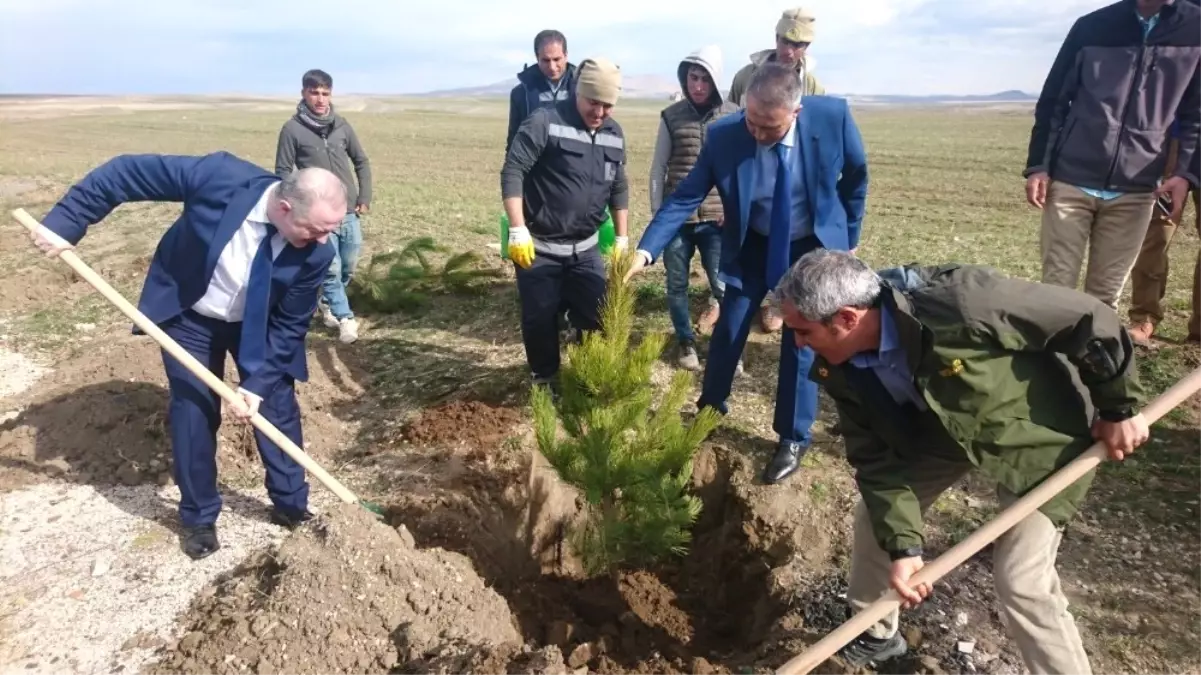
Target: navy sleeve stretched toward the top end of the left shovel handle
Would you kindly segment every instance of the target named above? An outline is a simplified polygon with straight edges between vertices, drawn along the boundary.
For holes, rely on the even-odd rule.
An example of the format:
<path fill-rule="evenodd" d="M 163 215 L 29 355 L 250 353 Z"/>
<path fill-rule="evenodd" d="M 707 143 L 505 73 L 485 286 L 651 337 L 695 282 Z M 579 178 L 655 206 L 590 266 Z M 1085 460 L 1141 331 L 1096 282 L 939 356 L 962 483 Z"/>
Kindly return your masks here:
<path fill-rule="evenodd" d="M 203 156 L 119 155 L 71 186 L 42 225 L 71 244 L 88 227 L 129 202 L 186 202 L 197 190 L 197 166 Z"/>

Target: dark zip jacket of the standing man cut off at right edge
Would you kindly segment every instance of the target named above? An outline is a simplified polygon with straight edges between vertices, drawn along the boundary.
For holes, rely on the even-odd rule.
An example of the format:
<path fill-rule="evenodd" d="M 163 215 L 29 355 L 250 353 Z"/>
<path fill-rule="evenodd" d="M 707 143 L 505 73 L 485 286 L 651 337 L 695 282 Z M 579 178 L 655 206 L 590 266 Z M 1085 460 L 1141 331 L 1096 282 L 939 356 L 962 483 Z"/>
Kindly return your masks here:
<path fill-rule="evenodd" d="M 1023 175 L 1149 192 L 1165 173 L 1176 120 L 1178 159 L 1167 173 L 1197 186 L 1201 7 L 1165 5 L 1146 41 L 1135 11 L 1135 0 L 1121 0 L 1071 26 L 1034 109 Z"/>

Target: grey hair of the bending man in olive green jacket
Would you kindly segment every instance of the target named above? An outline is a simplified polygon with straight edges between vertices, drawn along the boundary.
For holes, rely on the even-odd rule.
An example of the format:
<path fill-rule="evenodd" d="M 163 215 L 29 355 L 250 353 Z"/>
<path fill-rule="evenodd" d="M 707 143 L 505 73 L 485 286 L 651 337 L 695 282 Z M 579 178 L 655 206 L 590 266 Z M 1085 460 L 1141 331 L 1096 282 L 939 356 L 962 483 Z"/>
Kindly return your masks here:
<path fill-rule="evenodd" d="M 818 249 L 796 261 L 772 293 L 806 321 L 826 321 L 843 307 L 866 309 L 876 303 L 883 281 L 867 263 L 847 251 Z"/>

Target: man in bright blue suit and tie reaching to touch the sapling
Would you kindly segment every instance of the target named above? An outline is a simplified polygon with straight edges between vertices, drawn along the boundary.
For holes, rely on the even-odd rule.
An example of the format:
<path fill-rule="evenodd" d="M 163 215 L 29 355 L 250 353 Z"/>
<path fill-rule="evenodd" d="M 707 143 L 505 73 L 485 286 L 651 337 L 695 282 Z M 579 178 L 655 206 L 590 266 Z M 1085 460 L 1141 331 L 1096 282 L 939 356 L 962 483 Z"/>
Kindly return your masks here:
<path fill-rule="evenodd" d="M 659 257 L 713 187 L 722 197 L 719 277 L 727 285 L 709 345 L 698 407 L 728 412 L 727 399 L 755 310 L 784 271 L 818 247 L 854 251 L 867 197 L 867 159 L 847 102 L 807 96 L 801 106 L 795 68 L 764 64 L 746 92 L 746 108 L 709 127 L 687 178 L 663 203 L 639 241 L 631 275 Z M 776 455 L 764 482 L 800 466 L 817 417 L 818 389 L 808 380 L 813 352 L 785 328 L 779 346 Z"/>

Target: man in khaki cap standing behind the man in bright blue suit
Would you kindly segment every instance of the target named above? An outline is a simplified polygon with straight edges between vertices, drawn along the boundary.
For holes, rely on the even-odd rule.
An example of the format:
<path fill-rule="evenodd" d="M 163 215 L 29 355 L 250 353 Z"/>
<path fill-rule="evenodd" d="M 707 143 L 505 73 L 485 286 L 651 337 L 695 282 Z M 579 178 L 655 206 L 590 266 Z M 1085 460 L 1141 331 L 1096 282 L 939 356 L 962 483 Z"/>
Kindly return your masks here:
<path fill-rule="evenodd" d="M 805 96 L 825 94 L 825 88 L 813 76 L 813 58 L 807 54 L 809 43 L 813 42 L 815 35 L 815 24 L 817 18 L 803 7 L 784 10 L 779 20 L 776 22 L 776 48 L 751 54 L 751 62 L 742 66 L 742 70 L 734 76 L 730 95 L 727 98 L 740 107 L 745 106 L 743 95 L 751 77 L 759 70 L 759 66 L 771 61 L 791 64 L 796 68 Z M 759 325 L 764 333 L 775 333 L 783 324 L 779 313 L 770 304 L 759 310 Z"/>

